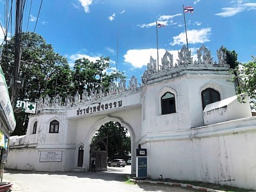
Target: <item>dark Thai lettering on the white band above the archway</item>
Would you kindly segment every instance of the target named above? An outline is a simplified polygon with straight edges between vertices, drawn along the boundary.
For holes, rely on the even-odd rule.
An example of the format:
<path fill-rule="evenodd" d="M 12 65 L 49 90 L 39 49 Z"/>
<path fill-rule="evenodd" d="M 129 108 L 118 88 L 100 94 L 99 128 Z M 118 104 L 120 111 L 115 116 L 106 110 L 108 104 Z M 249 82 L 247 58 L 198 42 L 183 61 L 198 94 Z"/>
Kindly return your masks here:
<path fill-rule="evenodd" d="M 108 110 L 108 109 L 120 108 L 121 106 L 122 106 L 122 100 L 104 103 L 104 104 L 99 102 L 98 104 L 88 106 L 87 108 L 78 108 L 76 111 L 76 114 L 77 115 L 90 114 L 90 113 L 95 113 L 97 111 L 104 111 L 104 110 Z"/>

